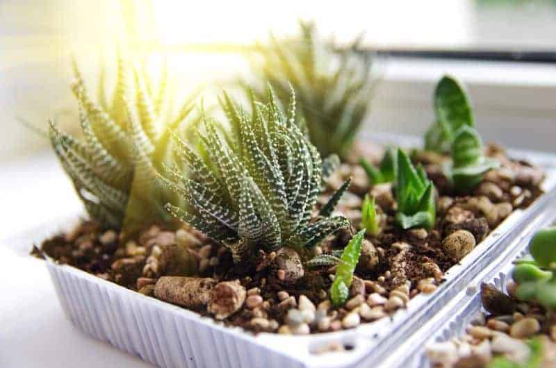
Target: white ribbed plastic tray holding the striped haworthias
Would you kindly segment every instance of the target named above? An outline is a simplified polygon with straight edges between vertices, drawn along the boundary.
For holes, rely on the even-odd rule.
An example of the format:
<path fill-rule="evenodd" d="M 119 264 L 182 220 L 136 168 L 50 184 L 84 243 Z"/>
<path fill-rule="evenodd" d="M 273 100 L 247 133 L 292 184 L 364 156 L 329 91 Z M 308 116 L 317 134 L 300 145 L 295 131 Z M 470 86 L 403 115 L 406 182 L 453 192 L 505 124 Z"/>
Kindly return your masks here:
<path fill-rule="evenodd" d="M 435 319 L 434 316 L 484 269 L 498 264 L 502 254 L 517 249 L 516 240 L 528 236 L 532 228 L 542 226 L 544 222 L 538 219 L 543 219 L 542 214 L 550 208 L 556 208 L 555 187 L 556 172 L 548 169 L 544 183 L 547 194 L 527 210 L 512 213 L 459 265 L 448 271 L 445 283 L 436 292 L 419 294 L 411 299 L 407 309 L 398 310 L 391 318 L 337 333 L 252 335 L 239 328 L 220 326 L 212 319 L 127 290 L 74 267 L 50 261 L 46 264 L 60 303 L 76 326 L 160 367 L 375 367 L 389 357 L 401 356 L 398 348 L 420 326 Z M 60 223 L 51 224 L 46 227 L 50 229 L 47 232 L 35 230 L 29 236 L 18 237 L 12 244 L 30 246 L 59 226 Z M 320 344 L 332 341 L 349 344 L 352 349 L 322 355 L 311 353 Z"/>

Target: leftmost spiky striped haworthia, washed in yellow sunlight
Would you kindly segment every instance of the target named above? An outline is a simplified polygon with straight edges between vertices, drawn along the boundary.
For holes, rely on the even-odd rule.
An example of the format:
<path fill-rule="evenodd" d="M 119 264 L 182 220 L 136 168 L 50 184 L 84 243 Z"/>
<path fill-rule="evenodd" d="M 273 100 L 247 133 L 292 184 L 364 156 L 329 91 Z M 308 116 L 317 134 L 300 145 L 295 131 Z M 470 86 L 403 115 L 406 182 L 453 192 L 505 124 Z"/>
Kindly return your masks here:
<path fill-rule="evenodd" d="M 74 62 L 72 91 L 84 139 L 60 131 L 54 122 L 49 138 L 90 217 L 129 234 L 151 222 L 172 220 L 164 204 L 173 194 L 156 172 L 170 159 L 171 132 L 190 115 L 193 104 L 186 103 L 171 117 L 165 110 L 170 99 L 165 72 L 154 92 L 143 72 L 121 57 L 117 64 L 112 102 L 106 102 L 102 73 L 95 103 Z"/>

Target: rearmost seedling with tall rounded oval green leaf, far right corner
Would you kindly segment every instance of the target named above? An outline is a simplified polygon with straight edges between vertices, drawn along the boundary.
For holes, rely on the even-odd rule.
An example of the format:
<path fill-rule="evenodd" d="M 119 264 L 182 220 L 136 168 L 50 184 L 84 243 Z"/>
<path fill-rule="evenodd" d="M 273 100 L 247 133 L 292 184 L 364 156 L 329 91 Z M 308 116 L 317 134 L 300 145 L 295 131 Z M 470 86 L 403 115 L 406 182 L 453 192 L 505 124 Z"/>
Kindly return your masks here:
<path fill-rule="evenodd" d="M 452 76 L 443 76 L 434 90 L 432 126 L 425 133 L 425 149 L 449 153 L 461 126 L 475 126 L 466 90 Z"/>

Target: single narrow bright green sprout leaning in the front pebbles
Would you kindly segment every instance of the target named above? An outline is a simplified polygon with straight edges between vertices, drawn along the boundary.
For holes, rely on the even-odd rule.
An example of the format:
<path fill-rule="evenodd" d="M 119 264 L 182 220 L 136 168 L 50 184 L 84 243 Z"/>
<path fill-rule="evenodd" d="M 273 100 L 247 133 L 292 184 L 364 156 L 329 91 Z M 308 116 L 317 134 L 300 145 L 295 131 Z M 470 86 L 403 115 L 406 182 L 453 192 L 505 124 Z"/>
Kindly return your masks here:
<path fill-rule="evenodd" d="M 330 287 L 330 299 L 334 306 L 343 306 L 343 303 L 347 300 L 347 296 L 350 294 L 350 286 L 352 285 L 353 273 L 357 262 L 359 262 L 359 256 L 361 255 L 361 244 L 363 243 L 363 238 L 365 237 L 365 229 L 359 231 L 350 240 L 349 243 L 343 249 L 341 256 L 341 262 L 336 267 L 336 276 L 334 276 L 334 282 L 332 287 Z"/>

